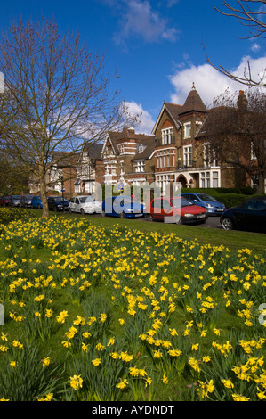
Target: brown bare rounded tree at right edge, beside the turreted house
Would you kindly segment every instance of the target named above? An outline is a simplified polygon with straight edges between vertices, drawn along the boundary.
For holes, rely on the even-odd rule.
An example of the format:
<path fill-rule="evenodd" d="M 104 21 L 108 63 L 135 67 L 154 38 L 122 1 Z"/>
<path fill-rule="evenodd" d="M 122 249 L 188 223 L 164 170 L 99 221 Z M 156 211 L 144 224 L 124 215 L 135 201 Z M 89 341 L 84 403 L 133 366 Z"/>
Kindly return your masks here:
<path fill-rule="evenodd" d="M 214 99 L 214 107 L 202 127 L 210 159 L 242 168 L 264 193 L 266 179 L 266 94 L 257 89 L 224 94 Z"/>

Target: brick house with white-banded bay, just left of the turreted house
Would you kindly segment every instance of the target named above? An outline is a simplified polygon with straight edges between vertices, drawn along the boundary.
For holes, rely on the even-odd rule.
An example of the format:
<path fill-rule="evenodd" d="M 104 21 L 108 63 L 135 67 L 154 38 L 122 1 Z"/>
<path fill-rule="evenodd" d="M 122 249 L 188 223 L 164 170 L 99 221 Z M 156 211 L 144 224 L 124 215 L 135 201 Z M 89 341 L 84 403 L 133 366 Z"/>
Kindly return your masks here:
<path fill-rule="evenodd" d="M 154 181 L 155 136 L 137 134 L 132 127 L 109 132 L 101 158 L 104 184 L 141 185 Z M 100 183 L 100 182 L 99 182 Z"/>

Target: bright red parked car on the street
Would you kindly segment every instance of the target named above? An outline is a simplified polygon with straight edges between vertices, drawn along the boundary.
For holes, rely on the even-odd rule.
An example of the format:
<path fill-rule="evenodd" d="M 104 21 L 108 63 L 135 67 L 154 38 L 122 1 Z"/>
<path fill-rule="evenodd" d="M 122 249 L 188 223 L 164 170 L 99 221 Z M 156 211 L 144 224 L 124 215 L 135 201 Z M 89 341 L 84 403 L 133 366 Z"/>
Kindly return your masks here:
<path fill-rule="evenodd" d="M 155 198 L 147 209 L 147 220 L 164 220 L 176 224 L 204 223 L 208 218 L 206 208 L 199 207 L 179 196 L 174 198 Z"/>

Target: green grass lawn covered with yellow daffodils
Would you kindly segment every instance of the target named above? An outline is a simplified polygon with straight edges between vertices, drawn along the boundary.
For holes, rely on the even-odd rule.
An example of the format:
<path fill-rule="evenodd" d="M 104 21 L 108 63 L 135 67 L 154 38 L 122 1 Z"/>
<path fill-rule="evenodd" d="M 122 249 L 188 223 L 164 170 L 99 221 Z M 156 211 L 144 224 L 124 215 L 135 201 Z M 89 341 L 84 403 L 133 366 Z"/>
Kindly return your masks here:
<path fill-rule="evenodd" d="M 265 235 L 0 209 L 0 399 L 266 398 Z"/>

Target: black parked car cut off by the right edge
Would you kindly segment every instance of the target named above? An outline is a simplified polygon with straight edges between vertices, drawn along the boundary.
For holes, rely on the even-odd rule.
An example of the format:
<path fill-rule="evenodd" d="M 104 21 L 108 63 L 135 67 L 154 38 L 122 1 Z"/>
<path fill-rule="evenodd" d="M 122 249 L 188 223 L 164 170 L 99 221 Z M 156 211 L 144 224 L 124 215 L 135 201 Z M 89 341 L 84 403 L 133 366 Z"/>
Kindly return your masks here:
<path fill-rule="evenodd" d="M 225 209 L 220 221 L 224 230 L 266 232 L 266 195 L 248 198 L 239 207 Z"/>

